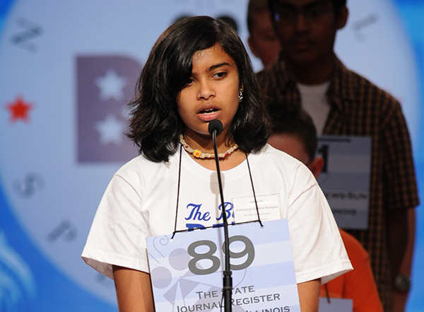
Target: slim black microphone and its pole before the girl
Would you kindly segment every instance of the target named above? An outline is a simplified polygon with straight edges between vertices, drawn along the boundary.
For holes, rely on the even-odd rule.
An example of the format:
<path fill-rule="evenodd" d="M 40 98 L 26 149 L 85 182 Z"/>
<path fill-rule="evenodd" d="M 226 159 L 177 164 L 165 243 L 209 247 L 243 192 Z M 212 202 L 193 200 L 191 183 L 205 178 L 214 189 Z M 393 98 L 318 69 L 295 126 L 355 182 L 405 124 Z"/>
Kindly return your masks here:
<path fill-rule="evenodd" d="M 218 175 L 218 185 L 220 192 L 221 200 L 221 213 L 223 214 L 223 224 L 224 224 L 224 251 L 225 251 L 225 268 L 224 268 L 224 279 L 223 279 L 223 296 L 224 296 L 224 311 L 232 311 L 232 277 L 230 270 L 230 243 L 228 237 L 228 220 L 227 212 L 225 212 L 225 202 L 224 202 L 224 193 L 223 193 L 223 183 L 220 178 L 220 169 L 219 169 L 219 157 L 218 157 L 218 147 L 216 146 L 216 137 L 223 131 L 223 123 L 220 120 L 211 120 L 208 127 L 209 133 L 212 135 L 213 140 L 213 152 L 215 154 L 215 163 L 216 163 L 216 173 Z"/>

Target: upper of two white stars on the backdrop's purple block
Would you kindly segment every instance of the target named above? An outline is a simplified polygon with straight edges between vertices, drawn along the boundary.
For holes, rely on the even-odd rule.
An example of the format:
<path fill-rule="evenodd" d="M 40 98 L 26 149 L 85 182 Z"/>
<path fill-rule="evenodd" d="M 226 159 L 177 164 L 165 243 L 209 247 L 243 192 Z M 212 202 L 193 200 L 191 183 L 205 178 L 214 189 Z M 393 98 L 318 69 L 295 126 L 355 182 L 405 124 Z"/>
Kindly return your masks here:
<path fill-rule="evenodd" d="M 100 98 L 108 100 L 122 100 L 124 98 L 123 88 L 126 86 L 126 79 L 118 76 L 114 69 L 108 69 L 105 76 L 100 76 L 95 79 L 95 85 L 100 88 Z"/>

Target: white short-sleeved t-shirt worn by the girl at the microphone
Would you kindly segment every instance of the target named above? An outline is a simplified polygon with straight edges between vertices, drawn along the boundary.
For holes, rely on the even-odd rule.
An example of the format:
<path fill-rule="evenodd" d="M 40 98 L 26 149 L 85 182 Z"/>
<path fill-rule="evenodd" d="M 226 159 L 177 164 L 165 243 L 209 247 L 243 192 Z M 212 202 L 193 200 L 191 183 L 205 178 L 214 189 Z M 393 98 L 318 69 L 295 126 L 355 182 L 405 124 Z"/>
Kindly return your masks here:
<path fill-rule="evenodd" d="M 112 265 L 149 272 L 146 237 L 222 223 L 216 171 L 196 163 L 182 151 L 165 163 L 138 156 L 112 178 L 103 195 L 83 250 L 83 260 L 113 278 Z M 288 219 L 298 283 L 322 282 L 351 270 L 340 233 L 316 180 L 300 161 L 266 145 L 249 154 L 257 196 L 279 195 L 281 218 Z M 252 197 L 247 161 L 221 171 L 225 203 Z M 229 219 L 229 223 L 231 223 Z"/>

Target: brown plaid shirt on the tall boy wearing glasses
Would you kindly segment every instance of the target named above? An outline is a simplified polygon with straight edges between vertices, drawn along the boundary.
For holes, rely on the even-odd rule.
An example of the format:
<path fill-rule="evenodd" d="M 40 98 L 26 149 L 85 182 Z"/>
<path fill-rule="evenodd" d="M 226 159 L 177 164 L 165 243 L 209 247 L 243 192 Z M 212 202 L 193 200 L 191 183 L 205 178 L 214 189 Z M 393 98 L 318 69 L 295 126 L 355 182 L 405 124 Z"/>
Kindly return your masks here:
<path fill-rule="evenodd" d="M 283 59 L 257 74 L 271 114 L 276 105 L 300 105 L 295 81 Z M 408 128 L 401 105 L 336 59 L 326 96 L 331 105 L 324 134 L 372 137 L 369 229 L 348 231 L 370 254 L 384 311 L 392 310 L 391 271 L 387 245 L 387 209 L 407 209 L 419 203 Z M 275 115 L 275 114 L 274 114 Z"/>

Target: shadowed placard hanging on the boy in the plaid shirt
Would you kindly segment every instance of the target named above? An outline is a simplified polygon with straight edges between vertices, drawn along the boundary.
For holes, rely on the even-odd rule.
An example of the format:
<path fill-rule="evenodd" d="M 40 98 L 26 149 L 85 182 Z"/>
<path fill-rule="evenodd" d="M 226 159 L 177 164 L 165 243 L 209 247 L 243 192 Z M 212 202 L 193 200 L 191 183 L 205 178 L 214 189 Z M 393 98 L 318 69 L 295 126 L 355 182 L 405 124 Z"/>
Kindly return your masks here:
<path fill-rule="evenodd" d="M 318 183 L 342 229 L 368 228 L 371 148 L 370 137 L 318 137 L 324 158 Z"/>

